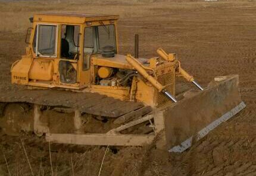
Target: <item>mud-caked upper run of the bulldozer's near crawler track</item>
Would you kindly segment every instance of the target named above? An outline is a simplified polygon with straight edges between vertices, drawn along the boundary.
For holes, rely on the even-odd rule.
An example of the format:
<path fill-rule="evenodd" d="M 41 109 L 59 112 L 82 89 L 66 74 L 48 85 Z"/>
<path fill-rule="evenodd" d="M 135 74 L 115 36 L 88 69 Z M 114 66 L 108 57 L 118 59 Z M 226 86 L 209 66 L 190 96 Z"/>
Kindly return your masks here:
<path fill-rule="evenodd" d="M 144 107 L 142 103 L 121 101 L 96 93 L 57 89 L 4 91 L 0 92 L 0 102 L 64 106 L 77 108 L 84 113 L 105 117 L 119 117 Z"/>

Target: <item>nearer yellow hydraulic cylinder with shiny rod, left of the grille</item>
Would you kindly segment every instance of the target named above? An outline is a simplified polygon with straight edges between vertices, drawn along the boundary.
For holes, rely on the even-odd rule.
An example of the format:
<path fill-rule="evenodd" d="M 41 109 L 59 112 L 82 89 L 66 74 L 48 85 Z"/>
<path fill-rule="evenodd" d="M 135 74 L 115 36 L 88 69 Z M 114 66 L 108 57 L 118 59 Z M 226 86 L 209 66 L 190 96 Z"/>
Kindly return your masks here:
<path fill-rule="evenodd" d="M 132 65 L 136 71 L 138 71 L 146 80 L 148 80 L 155 88 L 158 89 L 158 91 L 162 92 L 163 94 L 165 94 L 168 98 L 170 98 L 170 100 L 172 100 L 174 103 L 177 102 L 177 100 L 173 97 L 173 95 L 170 94 L 170 92 L 167 92 L 163 85 L 161 85 L 155 78 L 153 78 L 151 75 L 149 75 L 145 69 L 143 69 L 143 67 L 140 65 L 140 63 L 138 63 L 134 57 L 132 57 L 131 55 L 127 55 L 126 56 L 126 60 L 128 63 L 130 63 L 130 65 Z"/>

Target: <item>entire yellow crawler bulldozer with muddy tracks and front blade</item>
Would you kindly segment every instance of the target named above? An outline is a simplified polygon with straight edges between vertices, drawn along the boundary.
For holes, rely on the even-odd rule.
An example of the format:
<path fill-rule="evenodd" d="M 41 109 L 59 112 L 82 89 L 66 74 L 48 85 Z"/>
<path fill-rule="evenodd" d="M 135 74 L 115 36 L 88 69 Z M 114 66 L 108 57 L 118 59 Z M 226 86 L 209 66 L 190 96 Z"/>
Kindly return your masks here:
<path fill-rule="evenodd" d="M 159 148 L 182 152 L 245 107 L 238 75 L 201 87 L 174 53 L 159 48 L 157 57 L 139 57 L 137 35 L 135 56 L 118 54 L 118 15 L 29 20 L 26 55 L 11 66 L 11 82 L 25 87 L 0 93 L 5 133 L 111 146 L 143 146 L 158 136 Z"/>

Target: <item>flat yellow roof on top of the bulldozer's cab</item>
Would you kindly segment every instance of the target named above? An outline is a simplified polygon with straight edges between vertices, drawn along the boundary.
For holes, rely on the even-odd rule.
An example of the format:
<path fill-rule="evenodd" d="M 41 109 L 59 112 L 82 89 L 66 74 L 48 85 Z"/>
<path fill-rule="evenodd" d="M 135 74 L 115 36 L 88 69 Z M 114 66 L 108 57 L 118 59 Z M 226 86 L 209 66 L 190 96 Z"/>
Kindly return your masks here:
<path fill-rule="evenodd" d="M 117 20 L 119 15 L 85 14 L 78 12 L 36 14 L 33 21 L 83 24 L 86 21 Z"/>

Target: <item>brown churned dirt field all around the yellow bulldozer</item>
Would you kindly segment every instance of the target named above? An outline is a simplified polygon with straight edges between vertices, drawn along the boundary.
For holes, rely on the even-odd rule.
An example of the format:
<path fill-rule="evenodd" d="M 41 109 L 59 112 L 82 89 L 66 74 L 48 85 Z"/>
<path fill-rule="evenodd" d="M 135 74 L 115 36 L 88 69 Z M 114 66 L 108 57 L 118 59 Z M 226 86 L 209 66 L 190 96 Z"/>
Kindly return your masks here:
<path fill-rule="evenodd" d="M 10 66 L 25 52 L 33 14 L 119 14 L 121 54 L 133 53 L 133 34 L 138 33 L 141 56 L 155 56 L 158 47 L 177 53 L 183 68 L 202 85 L 214 76 L 238 73 L 247 107 L 182 154 L 159 151 L 154 145 L 110 148 L 101 175 L 256 175 L 256 1 L 60 2 L 0 2 L 0 91 L 16 88 L 10 84 Z M 98 175 L 106 150 L 51 145 L 49 155 L 48 143 L 33 135 L 2 135 L 0 140 L 0 175 Z"/>

